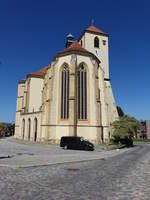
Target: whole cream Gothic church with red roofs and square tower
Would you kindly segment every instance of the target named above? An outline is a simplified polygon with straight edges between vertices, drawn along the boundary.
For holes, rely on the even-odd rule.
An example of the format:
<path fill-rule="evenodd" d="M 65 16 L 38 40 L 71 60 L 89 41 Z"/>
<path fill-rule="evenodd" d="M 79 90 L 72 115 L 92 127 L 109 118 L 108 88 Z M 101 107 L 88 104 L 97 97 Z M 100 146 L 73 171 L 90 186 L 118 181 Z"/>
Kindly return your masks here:
<path fill-rule="evenodd" d="M 107 143 L 118 119 L 109 79 L 108 34 L 91 25 L 51 64 L 18 83 L 15 138 L 59 143 L 62 136 L 83 136 Z"/>

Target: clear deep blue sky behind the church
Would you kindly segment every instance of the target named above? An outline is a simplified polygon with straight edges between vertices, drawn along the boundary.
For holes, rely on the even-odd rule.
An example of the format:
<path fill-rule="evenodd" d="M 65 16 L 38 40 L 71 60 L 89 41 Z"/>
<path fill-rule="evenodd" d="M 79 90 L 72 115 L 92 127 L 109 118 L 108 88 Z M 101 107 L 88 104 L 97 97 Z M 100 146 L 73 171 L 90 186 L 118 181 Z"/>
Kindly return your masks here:
<path fill-rule="evenodd" d="M 149 0 L 1 0 L 0 121 L 15 120 L 17 83 L 94 25 L 109 33 L 110 77 L 116 104 L 150 119 Z"/>

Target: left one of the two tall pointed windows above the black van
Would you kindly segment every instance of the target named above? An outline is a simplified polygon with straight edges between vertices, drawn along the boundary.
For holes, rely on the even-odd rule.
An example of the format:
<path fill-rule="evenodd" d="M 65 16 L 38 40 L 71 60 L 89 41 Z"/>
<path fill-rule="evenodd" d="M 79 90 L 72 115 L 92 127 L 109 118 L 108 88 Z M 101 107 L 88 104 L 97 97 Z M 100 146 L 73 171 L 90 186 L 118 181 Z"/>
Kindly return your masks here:
<path fill-rule="evenodd" d="M 69 118 L 69 69 L 66 65 L 61 71 L 61 119 Z"/>

